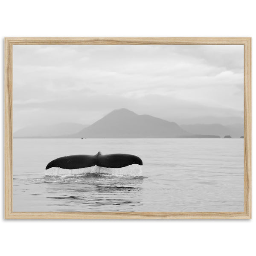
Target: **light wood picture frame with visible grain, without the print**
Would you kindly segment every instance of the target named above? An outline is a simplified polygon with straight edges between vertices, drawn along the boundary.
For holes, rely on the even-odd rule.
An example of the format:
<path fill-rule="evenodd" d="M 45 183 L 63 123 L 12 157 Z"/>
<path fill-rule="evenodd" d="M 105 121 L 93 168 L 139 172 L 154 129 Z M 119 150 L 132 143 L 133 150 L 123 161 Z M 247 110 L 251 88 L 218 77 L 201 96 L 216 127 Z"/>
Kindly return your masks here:
<path fill-rule="evenodd" d="M 12 69 L 17 44 L 240 44 L 244 45 L 243 212 L 13 212 Z M 6 219 L 250 219 L 251 218 L 251 38 L 5 38 L 5 218 Z"/>

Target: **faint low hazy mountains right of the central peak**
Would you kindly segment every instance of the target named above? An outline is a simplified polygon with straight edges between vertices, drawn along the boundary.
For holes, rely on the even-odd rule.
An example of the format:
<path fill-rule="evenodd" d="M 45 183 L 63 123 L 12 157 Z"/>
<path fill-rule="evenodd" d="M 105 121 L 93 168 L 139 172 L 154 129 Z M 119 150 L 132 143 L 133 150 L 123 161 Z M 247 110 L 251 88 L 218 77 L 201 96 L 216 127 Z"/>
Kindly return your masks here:
<path fill-rule="evenodd" d="M 180 125 L 184 130 L 192 134 L 214 134 L 223 138 L 225 135 L 230 134 L 232 138 L 240 138 L 244 135 L 243 124 L 221 125 L 221 124 L 193 124 L 193 125 Z"/>

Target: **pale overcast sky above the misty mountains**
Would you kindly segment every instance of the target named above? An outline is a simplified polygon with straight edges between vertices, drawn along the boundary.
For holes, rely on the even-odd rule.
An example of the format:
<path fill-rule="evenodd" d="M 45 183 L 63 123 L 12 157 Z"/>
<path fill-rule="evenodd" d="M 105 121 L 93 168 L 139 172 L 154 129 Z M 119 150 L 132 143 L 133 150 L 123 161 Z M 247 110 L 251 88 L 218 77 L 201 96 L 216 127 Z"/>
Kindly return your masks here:
<path fill-rule="evenodd" d="M 128 108 L 182 123 L 243 118 L 242 45 L 14 45 L 14 131 Z"/>

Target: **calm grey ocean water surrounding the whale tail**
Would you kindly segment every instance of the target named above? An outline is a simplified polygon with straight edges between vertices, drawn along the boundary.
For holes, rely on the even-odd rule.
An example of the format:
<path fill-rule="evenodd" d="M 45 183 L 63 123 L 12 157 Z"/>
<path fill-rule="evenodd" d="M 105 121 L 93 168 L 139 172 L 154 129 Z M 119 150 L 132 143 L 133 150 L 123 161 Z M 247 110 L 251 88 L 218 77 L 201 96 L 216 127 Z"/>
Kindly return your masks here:
<path fill-rule="evenodd" d="M 14 139 L 13 211 L 243 211 L 243 139 Z M 127 153 L 142 174 L 46 175 L 72 154 Z"/>

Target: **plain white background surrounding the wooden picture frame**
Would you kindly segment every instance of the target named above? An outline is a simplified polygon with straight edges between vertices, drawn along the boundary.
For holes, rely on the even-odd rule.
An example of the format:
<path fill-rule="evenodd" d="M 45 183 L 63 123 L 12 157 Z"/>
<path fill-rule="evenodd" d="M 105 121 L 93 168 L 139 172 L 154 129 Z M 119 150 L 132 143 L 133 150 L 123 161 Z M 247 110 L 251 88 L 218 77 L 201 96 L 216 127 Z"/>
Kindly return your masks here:
<path fill-rule="evenodd" d="M 255 57 L 255 6 L 250 0 L 4 0 L 0 20 L 2 120 L 5 36 L 251 36 Z M 253 78 L 254 75 L 255 72 Z M 254 94 L 253 89 L 253 99 Z M 1 129 L 3 145 L 3 125 Z M 253 137 L 253 148 L 255 143 Z M 3 151 L 3 146 L 1 149 Z M 236 256 L 256 253 L 255 207 L 253 219 L 244 221 L 4 220 L 3 153 L 1 161 L 2 255 Z M 253 196 L 253 206 L 255 198 Z"/>

